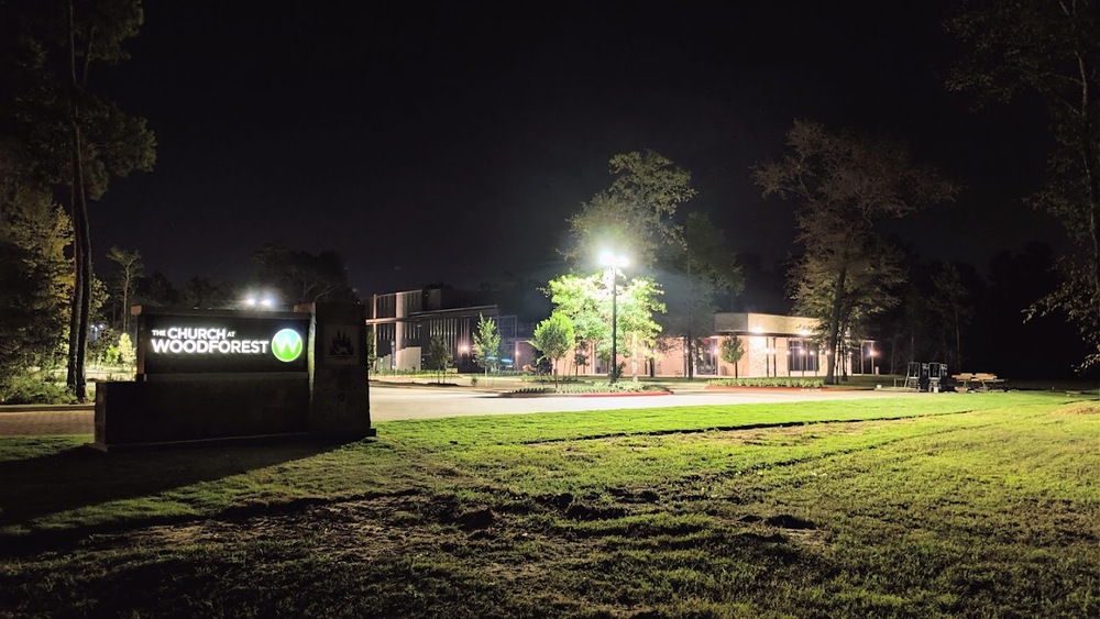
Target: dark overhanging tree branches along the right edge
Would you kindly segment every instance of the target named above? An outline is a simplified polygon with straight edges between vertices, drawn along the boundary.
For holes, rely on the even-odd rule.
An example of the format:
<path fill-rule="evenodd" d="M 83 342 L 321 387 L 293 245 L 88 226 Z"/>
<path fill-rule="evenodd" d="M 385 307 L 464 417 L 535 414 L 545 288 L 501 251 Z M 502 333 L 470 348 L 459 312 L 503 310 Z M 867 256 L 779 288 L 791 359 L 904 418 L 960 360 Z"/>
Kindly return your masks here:
<path fill-rule="evenodd" d="M 968 45 L 949 88 L 980 102 L 1028 92 L 1046 106 L 1056 147 L 1030 201 L 1065 224 L 1078 252 L 1032 313 L 1065 313 L 1093 350 L 1082 365 L 1100 362 L 1100 3 L 964 0 L 947 30 Z"/>

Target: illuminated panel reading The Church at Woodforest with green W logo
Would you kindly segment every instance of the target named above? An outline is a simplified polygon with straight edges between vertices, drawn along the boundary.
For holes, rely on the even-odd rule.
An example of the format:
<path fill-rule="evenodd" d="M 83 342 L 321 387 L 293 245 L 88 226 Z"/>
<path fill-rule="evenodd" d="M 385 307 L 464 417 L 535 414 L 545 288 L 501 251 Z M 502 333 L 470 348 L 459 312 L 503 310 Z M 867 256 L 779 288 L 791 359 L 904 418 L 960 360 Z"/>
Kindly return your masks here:
<path fill-rule="evenodd" d="M 139 365 L 146 375 L 306 372 L 309 318 L 301 314 L 150 312 L 141 318 Z"/>

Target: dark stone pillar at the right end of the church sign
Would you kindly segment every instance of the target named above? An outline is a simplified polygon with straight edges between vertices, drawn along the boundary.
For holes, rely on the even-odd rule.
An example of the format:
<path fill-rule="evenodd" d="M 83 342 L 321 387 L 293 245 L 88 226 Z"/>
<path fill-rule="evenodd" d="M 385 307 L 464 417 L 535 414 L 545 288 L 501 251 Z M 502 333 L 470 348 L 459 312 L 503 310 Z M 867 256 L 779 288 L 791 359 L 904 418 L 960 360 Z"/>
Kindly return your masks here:
<path fill-rule="evenodd" d="M 375 435 L 366 365 L 366 311 L 358 303 L 309 303 L 309 429 Z"/>

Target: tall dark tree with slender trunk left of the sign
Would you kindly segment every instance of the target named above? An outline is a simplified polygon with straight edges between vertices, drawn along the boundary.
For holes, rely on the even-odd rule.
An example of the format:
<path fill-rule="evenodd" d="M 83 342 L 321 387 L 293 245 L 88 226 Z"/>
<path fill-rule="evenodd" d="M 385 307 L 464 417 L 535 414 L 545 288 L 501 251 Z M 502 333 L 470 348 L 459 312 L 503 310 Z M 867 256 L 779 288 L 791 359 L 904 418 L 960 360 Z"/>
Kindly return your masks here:
<path fill-rule="evenodd" d="M 25 183 L 69 189 L 75 281 L 69 319 L 69 388 L 87 396 L 85 356 L 92 312 L 88 200 L 112 177 L 150 170 L 155 139 L 144 119 L 91 88 L 91 69 L 127 58 L 140 0 L 9 0 L 0 3 L 0 125 Z"/>

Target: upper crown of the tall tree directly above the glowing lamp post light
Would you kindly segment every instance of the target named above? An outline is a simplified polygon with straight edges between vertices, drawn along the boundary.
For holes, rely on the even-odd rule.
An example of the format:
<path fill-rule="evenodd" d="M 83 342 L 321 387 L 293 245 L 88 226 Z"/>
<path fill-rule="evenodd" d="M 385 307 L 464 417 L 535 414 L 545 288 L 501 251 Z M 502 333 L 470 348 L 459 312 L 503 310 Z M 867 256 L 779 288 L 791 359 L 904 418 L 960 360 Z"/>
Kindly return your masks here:
<path fill-rule="evenodd" d="M 600 247 L 629 247 L 631 262 L 652 266 L 660 251 L 681 237 L 673 218 L 695 196 L 691 174 L 652 151 L 615 155 L 610 187 L 581 205 L 569 220 L 573 246 L 566 257 L 591 265 Z"/>

